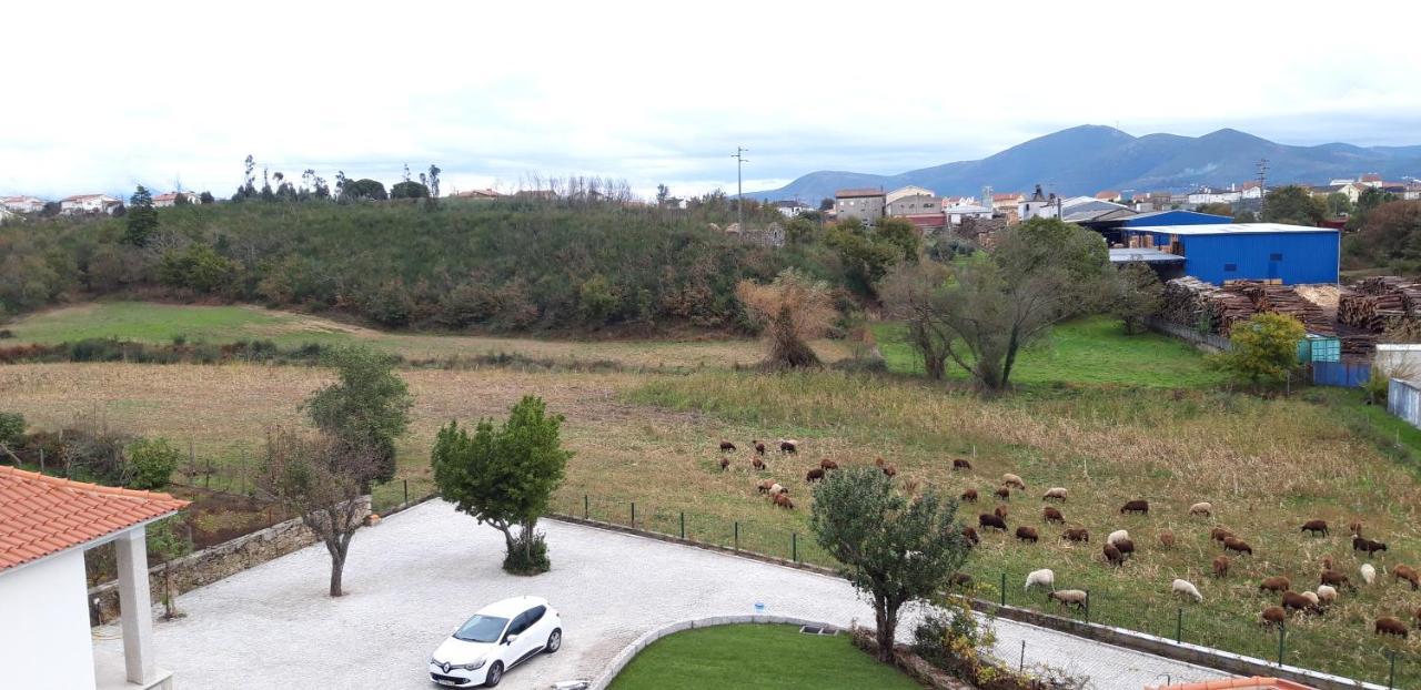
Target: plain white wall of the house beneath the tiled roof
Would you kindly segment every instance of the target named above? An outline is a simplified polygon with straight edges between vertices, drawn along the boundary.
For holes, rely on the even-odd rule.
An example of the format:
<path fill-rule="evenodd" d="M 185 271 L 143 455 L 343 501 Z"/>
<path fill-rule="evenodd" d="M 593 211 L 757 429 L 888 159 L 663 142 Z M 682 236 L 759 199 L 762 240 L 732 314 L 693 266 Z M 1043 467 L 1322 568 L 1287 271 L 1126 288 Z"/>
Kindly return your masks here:
<path fill-rule="evenodd" d="M 80 549 L 0 572 L 0 684 L 94 687 L 87 592 Z"/>

